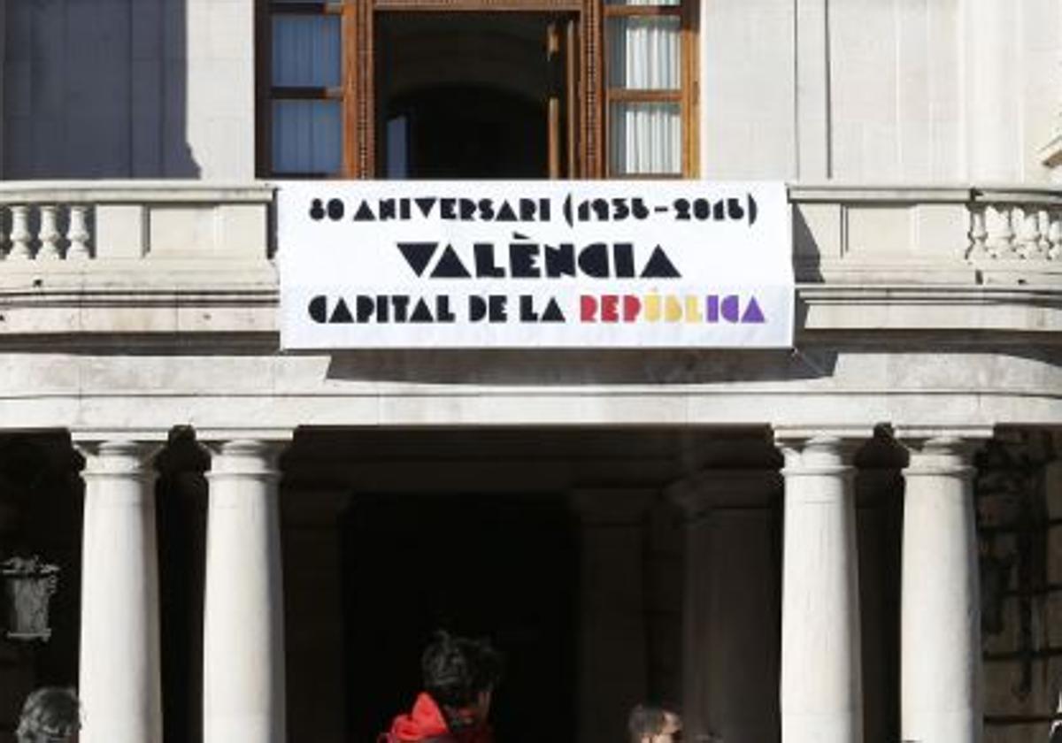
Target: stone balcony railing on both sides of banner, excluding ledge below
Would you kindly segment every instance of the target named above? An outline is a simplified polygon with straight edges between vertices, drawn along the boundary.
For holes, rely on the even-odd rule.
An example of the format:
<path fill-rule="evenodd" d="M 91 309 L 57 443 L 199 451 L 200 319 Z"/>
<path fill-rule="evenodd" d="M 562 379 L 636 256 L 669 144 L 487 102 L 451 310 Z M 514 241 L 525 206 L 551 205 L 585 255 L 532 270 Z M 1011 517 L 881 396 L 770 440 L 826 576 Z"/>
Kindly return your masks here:
<path fill-rule="evenodd" d="M 795 184 L 789 192 L 802 282 L 1062 281 L 1057 189 Z M 0 182 L 0 257 L 7 270 L 264 260 L 272 204 L 268 184 Z"/>

